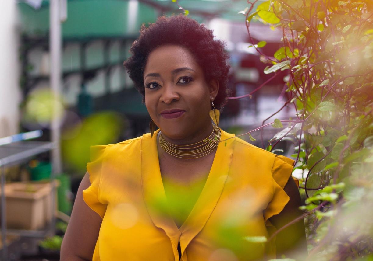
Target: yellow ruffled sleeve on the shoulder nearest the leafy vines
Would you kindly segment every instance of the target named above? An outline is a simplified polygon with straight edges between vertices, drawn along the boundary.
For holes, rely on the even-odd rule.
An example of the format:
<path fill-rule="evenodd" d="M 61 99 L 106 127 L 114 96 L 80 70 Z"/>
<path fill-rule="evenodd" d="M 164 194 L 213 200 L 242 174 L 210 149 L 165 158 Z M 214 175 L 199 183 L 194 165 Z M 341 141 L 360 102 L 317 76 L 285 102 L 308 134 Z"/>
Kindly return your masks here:
<path fill-rule="evenodd" d="M 272 166 L 273 178 L 273 197 L 264 210 L 264 220 L 266 225 L 270 225 L 267 221 L 270 217 L 280 213 L 289 201 L 289 196 L 283 190 L 291 176 L 294 160 L 282 155 L 275 157 L 275 162 Z M 298 185 L 297 181 L 295 183 Z"/>

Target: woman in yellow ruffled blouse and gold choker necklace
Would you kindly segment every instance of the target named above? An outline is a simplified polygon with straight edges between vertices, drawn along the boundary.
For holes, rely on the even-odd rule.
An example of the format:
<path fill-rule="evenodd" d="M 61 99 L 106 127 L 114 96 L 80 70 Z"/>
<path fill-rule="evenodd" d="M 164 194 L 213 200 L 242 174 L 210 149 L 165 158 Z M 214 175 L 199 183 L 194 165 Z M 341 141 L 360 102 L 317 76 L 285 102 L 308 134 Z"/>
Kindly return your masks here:
<path fill-rule="evenodd" d="M 229 66 L 213 37 L 185 16 L 142 27 L 124 65 L 151 133 L 91 148 L 61 260 L 260 260 L 304 249 L 303 221 L 254 242 L 301 214 L 294 161 L 216 126 Z"/>

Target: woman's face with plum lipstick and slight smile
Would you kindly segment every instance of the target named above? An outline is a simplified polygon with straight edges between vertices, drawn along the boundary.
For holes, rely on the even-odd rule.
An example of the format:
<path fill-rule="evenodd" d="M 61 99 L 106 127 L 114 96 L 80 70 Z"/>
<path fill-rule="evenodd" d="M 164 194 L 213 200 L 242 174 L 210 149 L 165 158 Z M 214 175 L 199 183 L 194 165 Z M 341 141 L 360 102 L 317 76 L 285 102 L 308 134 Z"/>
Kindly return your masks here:
<path fill-rule="evenodd" d="M 189 50 L 178 45 L 154 49 L 145 65 L 144 84 L 146 108 L 165 136 L 192 138 L 211 129 L 209 110 L 219 84 L 206 82 Z"/>

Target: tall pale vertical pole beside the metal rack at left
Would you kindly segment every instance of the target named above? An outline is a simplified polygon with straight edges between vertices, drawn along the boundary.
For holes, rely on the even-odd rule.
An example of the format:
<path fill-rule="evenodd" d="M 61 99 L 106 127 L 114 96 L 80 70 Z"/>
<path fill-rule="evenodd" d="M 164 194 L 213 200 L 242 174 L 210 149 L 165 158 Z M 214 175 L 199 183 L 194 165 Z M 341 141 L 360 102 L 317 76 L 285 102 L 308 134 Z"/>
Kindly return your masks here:
<path fill-rule="evenodd" d="M 50 86 L 56 99 L 60 97 L 61 90 L 61 23 L 60 0 L 49 1 L 49 49 L 50 49 Z M 57 102 L 58 100 L 56 100 Z M 55 102 L 54 102 L 55 104 Z M 51 122 L 51 141 L 54 143 L 52 150 L 52 165 L 55 173 L 62 172 L 60 150 L 60 115 L 57 106 L 53 106 Z"/>

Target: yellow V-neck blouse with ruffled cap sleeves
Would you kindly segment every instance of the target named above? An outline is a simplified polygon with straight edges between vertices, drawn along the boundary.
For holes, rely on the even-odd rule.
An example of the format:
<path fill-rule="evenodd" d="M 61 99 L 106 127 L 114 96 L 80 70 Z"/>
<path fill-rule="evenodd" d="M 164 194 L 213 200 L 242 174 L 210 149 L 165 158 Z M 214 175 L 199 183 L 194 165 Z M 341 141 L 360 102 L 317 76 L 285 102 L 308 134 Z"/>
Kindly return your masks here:
<path fill-rule="evenodd" d="M 157 130 L 91 147 L 85 203 L 102 220 L 93 261 L 239 261 L 275 258 L 269 217 L 289 201 L 283 190 L 294 160 L 222 131 L 213 164 L 189 216 L 178 228 L 167 204 Z M 179 246 L 179 251 L 178 251 Z"/>

